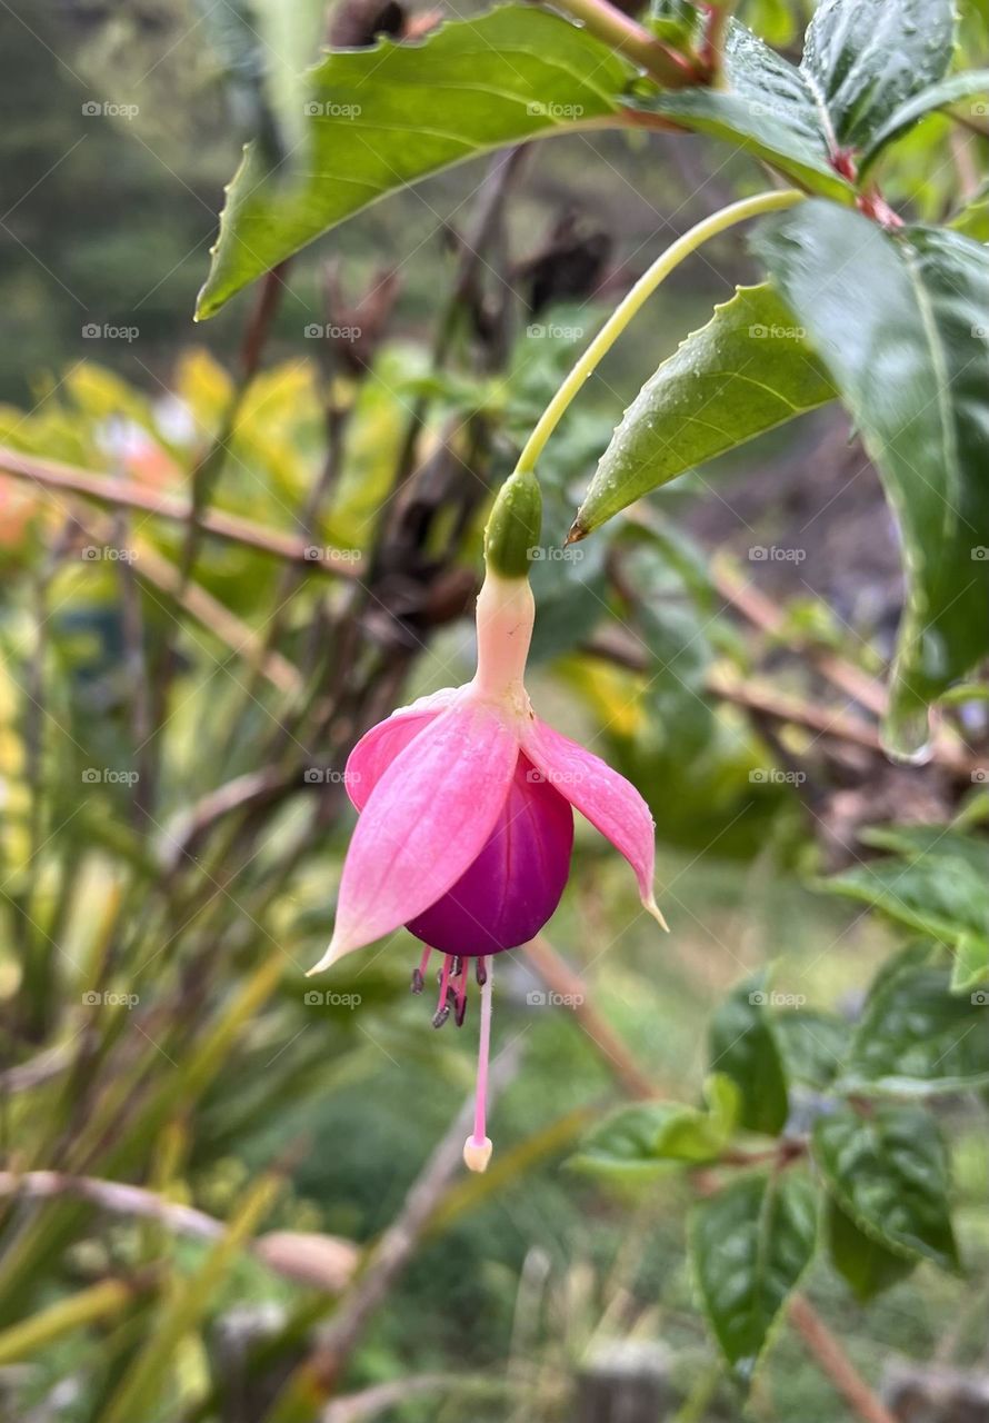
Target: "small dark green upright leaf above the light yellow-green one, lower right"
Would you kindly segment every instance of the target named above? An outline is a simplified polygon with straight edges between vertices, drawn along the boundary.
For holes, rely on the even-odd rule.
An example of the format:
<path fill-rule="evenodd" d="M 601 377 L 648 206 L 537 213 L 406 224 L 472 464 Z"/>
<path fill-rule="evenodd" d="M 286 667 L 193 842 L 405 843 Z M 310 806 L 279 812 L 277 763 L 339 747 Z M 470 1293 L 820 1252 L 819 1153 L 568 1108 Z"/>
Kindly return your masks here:
<path fill-rule="evenodd" d="M 753 975 L 740 983 L 712 1019 L 710 1063 L 739 1084 L 739 1124 L 749 1131 L 776 1137 L 790 1114 L 783 1059 L 770 1029 L 764 989 L 766 976 Z"/>

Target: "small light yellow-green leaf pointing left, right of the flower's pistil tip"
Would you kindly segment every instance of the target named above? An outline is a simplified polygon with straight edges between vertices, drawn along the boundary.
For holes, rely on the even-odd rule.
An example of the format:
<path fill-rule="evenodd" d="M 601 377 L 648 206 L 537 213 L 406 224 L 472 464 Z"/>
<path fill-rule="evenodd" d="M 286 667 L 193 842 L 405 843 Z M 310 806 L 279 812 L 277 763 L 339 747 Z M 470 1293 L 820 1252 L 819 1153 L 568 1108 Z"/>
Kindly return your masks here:
<path fill-rule="evenodd" d="M 622 1107 L 595 1127 L 569 1165 L 591 1175 L 629 1181 L 657 1174 L 670 1161 L 716 1161 L 739 1113 L 739 1089 L 721 1073 L 704 1083 L 709 1110 L 679 1101 Z"/>

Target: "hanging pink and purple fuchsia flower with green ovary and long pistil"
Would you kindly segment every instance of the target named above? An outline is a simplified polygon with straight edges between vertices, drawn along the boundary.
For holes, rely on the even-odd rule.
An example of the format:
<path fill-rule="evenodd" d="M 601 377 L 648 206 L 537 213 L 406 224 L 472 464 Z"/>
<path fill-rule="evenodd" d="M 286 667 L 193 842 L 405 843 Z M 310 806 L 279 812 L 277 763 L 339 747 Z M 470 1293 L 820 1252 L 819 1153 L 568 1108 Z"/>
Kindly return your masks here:
<path fill-rule="evenodd" d="M 467 1010 L 467 966 L 481 986 L 474 1131 L 464 1160 L 482 1171 L 492 958 L 532 939 L 559 904 L 573 808 L 629 861 L 643 906 L 653 896 L 655 827 L 638 790 L 601 757 L 541 721 L 524 684 L 535 602 L 528 551 L 539 536 L 532 475 L 502 487 L 485 536 L 472 682 L 394 712 L 350 754 L 344 784 L 360 811 L 343 865 L 330 945 L 317 973 L 404 925 L 443 956 L 434 1025 Z"/>

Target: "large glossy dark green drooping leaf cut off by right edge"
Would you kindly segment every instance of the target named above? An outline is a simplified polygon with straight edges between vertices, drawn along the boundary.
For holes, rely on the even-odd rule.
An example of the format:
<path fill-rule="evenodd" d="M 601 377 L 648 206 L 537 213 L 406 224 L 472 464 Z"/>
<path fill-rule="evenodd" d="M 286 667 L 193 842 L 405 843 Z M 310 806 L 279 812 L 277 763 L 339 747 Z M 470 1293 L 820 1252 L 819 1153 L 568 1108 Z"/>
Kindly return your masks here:
<path fill-rule="evenodd" d="M 908 576 L 891 743 L 989 652 L 989 250 L 811 199 L 754 238 L 851 411 L 898 517 Z"/>

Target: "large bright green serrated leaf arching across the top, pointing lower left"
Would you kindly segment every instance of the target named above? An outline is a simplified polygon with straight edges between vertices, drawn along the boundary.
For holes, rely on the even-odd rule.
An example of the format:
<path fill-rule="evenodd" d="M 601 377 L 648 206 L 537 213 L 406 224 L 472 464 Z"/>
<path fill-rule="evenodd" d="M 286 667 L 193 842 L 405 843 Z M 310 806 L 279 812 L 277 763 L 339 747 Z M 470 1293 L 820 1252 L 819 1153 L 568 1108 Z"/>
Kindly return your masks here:
<path fill-rule="evenodd" d="M 630 67 L 559 16 L 504 6 L 421 44 L 383 40 L 309 71 L 307 142 L 250 144 L 228 191 L 198 317 L 386 194 L 505 144 L 618 118 Z"/>

